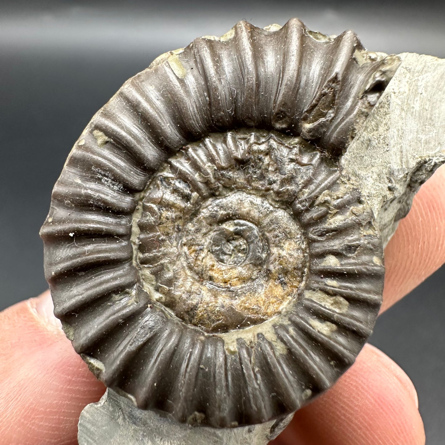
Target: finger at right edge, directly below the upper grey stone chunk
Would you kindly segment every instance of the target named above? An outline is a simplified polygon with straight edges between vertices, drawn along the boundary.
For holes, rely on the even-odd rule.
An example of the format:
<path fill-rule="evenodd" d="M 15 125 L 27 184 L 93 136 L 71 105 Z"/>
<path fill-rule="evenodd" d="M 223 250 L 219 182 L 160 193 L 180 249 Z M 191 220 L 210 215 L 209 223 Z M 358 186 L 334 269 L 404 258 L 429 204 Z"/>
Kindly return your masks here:
<path fill-rule="evenodd" d="M 445 165 L 421 186 L 385 249 L 382 312 L 445 263 Z"/>

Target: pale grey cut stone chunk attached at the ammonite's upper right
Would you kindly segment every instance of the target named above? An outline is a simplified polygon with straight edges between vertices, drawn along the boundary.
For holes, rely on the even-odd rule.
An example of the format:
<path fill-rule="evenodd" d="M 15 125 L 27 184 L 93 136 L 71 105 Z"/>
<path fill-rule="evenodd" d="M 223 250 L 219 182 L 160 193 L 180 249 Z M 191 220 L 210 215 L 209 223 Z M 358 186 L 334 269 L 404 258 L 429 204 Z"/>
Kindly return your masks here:
<path fill-rule="evenodd" d="M 445 162 L 445 60 L 399 57 L 401 65 L 341 161 L 372 207 L 384 245 L 418 188 Z"/>

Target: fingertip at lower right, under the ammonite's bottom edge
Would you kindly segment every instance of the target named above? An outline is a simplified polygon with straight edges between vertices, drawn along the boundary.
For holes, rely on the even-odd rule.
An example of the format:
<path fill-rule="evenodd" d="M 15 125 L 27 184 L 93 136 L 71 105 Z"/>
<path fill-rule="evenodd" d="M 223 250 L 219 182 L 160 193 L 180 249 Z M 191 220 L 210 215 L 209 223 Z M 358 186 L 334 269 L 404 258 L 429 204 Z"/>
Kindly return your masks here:
<path fill-rule="evenodd" d="M 367 344 L 328 392 L 295 414 L 275 445 L 424 445 L 411 380 Z"/>

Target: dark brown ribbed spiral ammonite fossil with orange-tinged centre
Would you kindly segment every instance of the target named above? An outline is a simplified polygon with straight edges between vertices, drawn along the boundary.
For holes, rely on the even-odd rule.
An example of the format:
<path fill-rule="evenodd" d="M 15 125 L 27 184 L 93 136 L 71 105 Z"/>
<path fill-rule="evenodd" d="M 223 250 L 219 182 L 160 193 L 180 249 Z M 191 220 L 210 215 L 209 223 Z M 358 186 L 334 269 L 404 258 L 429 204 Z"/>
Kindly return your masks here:
<path fill-rule="evenodd" d="M 291 413 L 337 380 L 384 277 L 339 160 L 397 65 L 352 32 L 243 21 L 99 110 L 41 230 L 55 314 L 99 379 L 215 427 Z"/>

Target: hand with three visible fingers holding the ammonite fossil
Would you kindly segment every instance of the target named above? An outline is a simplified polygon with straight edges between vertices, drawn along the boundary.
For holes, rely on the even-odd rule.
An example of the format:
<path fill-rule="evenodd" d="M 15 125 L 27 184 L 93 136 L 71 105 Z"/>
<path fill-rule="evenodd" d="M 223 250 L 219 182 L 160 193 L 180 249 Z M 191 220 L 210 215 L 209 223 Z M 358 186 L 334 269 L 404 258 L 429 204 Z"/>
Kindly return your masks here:
<path fill-rule="evenodd" d="M 385 249 L 382 312 L 445 263 L 445 166 L 419 190 Z M 0 445 L 74 445 L 85 405 L 105 387 L 53 316 L 49 291 L 0 312 Z M 273 445 L 423 445 L 409 377 L 367 344 Z"/>

